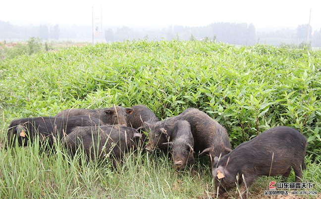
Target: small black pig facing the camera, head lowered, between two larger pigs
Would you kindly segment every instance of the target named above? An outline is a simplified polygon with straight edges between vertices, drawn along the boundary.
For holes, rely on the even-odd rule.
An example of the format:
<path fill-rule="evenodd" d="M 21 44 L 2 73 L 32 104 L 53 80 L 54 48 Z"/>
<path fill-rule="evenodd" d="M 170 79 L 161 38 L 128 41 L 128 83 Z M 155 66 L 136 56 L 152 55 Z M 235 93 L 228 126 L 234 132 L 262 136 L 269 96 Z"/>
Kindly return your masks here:
<path fill-rule="evenodd" d="M 172 140 L 163 145 L 168 144 L 171 147 L 175 169 L 180 170 L 187 164 L 194 164 L 194 139 L 188 121 L 178 120 L 175 123 Z"/>

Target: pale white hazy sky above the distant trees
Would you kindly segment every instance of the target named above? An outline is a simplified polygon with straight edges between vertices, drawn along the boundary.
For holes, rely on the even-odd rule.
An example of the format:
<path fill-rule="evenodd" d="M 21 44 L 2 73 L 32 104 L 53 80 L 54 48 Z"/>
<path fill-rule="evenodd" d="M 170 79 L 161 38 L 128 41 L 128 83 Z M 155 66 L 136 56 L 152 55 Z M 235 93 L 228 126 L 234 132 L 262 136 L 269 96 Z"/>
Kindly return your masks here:
<path fill-rule="evenodd" d="M 103 26 L 206 26 L 253 23 L 256 29 L 321 28 L 321 0 L 1 0 L 0 21 L 15 25 L 92 24 L 92 7 Z"/>

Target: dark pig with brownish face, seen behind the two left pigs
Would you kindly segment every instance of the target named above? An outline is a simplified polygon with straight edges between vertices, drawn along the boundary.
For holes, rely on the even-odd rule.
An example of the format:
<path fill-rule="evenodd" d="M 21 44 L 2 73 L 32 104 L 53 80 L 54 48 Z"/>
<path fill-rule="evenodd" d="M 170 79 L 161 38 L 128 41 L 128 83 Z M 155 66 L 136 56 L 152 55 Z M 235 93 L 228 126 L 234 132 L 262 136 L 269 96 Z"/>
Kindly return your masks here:
<path fill-rule="evenodd" d="M 133 109 L 114 106 L 105 109 L 67 109 L 61 111 L 54 118 L 65 118 L 70 116 L 86 115 L 101 119 L 105 124 L 126 125 L 126 118 L 133 113 Z"/>

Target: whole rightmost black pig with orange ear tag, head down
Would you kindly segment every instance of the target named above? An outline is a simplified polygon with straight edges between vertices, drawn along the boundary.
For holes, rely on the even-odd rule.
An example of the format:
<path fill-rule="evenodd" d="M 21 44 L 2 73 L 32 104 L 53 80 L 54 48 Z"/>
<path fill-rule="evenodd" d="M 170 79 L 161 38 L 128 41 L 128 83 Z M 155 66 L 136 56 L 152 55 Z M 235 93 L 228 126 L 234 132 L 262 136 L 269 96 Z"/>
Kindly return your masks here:
<path fill-rule="evenodd" d="M 295 173 L 295 181 L 299 182 L 302 169 L 306 167 L 304 163 L 306 145 L 306 137 L 293 128 L 278 126 L 266 130 L 219 159 L 218 167 L 212 173 L 215 190 L 219 187 L 221 194 L 235 187 L 235 183 L 238 182 L 241 183 L 240 191 L 243 197 L 246 197 L 246 188 L 258 176 L 287 177 L 291 167 Z M 245 182 L 242 180 L 242 175 Z"/>

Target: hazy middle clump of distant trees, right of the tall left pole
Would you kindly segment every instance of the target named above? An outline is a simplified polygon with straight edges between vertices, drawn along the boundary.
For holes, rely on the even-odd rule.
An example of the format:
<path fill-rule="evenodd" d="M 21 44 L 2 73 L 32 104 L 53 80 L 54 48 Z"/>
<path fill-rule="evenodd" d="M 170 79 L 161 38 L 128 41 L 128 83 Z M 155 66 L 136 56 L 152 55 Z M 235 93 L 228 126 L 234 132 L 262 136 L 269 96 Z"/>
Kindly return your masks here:
<path fill-rule="evenodd" d="M 253 24 L 213 23 L 204 27 L 173 26 L 156 31 L 131 29 L 128 27 L 108 28 L 105 31 L 108 42 L 122 40 L 215 40 L 231 44 L 253 45 L 256 31 Z"/>

